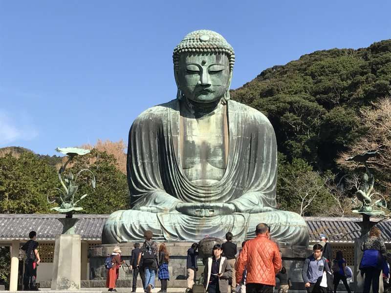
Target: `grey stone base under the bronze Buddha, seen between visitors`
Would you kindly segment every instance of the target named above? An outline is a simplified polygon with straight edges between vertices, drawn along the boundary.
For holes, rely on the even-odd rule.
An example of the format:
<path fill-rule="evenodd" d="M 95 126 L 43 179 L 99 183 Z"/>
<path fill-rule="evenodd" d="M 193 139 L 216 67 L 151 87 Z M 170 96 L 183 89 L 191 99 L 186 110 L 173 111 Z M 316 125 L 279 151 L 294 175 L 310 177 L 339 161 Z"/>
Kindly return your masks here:
<path fill-rule="evenodd" d="M 216 241 L 216 238 L 213 239 Z M 135 241 L 137 242 L 137 241 Z M 89 255 L 89 268 L 90 268 L 90 280 L 88 282 L 90 287 L 100 287 L 106 282 L 106 269 L 105 259 L 113 251 L 115 246 L 119 246 L 122 251 L 122 258 L 127 261 L 129 265 L 131 251 L 134 249 L 134 243 L 121 243 L 121 244 L 102 244 L 98 245 L 88 251 Z M 142 242 L 140 246 L 142 245 Z M 168 283 L 169 288 L 186 288 L 186 259 L 187 250 L 191 247 L 193 242 L 164 242 L 170 253 L 169 272 L 170 281 Z M 241 241 L 237 242 L 238 251 L 241 248 Z M 158 242 L 159 245 L 159 242 Z M 307 246 L 289 246 L 286 244 L 279 244 L 282 253 L 282 265 L 289 273 L 289 277 L 292 280 L 294 289 L 303 289 L 302 268 L 304 260 L 309 256 L 312 251 Z M 209 246 L 208 246 L 209 247 Z M 201 252 L 201 251 L 200 251 Z M 123 268 L 123 269 L 122 269 Z M 117 287 L 130 287 L 132 284 L 132 272 L 125 265 L 119 270 L 119 277 Z M 198 272 L 196 278 L 201 277 L 201 273 L 204 270 L 202 264 L 202 258 L 198 259 Z M 141 279 L 138 277 L 138 287 L 141 287 Z M 156 287 L 159 287 L 159 281 L 156 276 Z M 103 285 L 103 287 L 105 287 Z"/>

